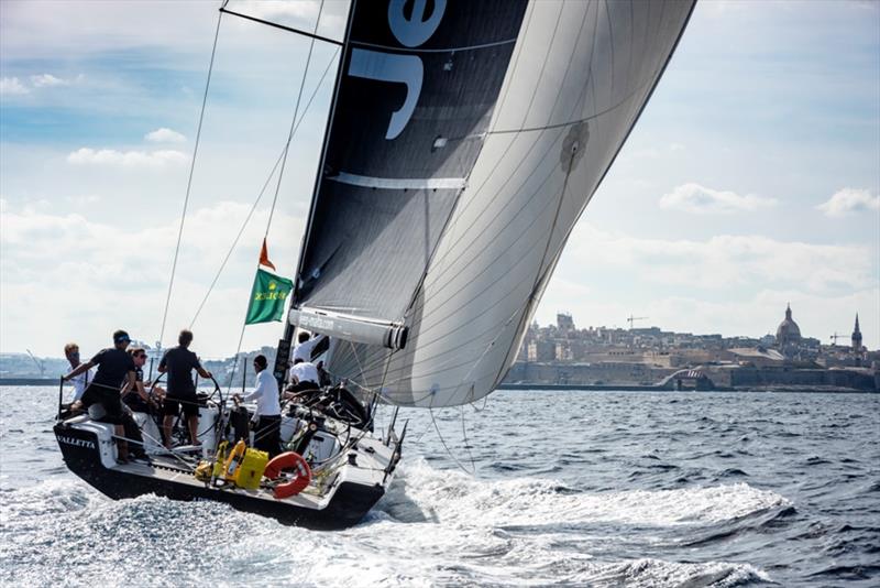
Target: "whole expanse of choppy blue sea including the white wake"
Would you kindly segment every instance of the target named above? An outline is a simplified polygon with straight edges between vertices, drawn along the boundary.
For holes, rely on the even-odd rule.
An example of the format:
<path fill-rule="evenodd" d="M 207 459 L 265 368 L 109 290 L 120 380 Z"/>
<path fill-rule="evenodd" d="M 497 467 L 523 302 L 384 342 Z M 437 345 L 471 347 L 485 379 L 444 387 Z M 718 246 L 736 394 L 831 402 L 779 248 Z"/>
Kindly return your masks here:
<path fill-rule="evenodd" d="M 55 390 L 0 394 L 3 585 L 880 585 L 880 395 L 502 391 L 402 411 L 388 494 L 329 533 L 106 499 L 64 467 Z"/>

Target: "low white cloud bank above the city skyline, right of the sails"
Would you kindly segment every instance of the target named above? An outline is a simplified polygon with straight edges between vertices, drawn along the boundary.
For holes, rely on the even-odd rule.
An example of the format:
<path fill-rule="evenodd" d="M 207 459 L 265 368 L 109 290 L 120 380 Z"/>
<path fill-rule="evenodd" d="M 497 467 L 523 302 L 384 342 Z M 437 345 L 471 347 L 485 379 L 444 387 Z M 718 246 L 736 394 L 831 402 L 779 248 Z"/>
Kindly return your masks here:
<path fill-rule="evenodd" d="M 684 285 L 684 287 L 682 287 Z M 774 331 L 791 302 L 807 337 L 851 329 L 858 312 L 866 345 L 880 346 L 880 287 L 870 246 L 821 246 L 760 236 L 645 239 L 583 224 L 569 240 L 538 309 L 579 327 L 641 326 L 726 336 Z M 868 325 L 866 327 L 866 325 Z"/>

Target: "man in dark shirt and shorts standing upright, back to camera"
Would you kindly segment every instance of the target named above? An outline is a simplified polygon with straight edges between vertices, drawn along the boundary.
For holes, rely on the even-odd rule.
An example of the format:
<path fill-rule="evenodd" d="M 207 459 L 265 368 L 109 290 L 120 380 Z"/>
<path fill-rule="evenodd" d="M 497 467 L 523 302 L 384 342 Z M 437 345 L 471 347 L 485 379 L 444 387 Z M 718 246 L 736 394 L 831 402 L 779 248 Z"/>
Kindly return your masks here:
<path fill-rule="evenodd" d="M 196 370 L 202 378 L 210 378 L 211 372 L 205 371 L 199 363 L 196 353 L 189 350 L 193 342 L 193 331 L 184 329 L 177 337 L 177 347 L 165 351 L 162 361 L 158 363 L 160 373 L 168 373 L 168 391 L 165 395 L 165 406 L 163 412 L 165 420 L 162 428 L 165 431 L 165 447 L 172 447 L 172 427 L 174 420 L 183 406 L 189 426 L 189 437 L 193 445 L 200 445 L 198 438 L 199 431 L 199 405 L 196 398 L 196 384 L 193 383 L 193 370 Z"/>

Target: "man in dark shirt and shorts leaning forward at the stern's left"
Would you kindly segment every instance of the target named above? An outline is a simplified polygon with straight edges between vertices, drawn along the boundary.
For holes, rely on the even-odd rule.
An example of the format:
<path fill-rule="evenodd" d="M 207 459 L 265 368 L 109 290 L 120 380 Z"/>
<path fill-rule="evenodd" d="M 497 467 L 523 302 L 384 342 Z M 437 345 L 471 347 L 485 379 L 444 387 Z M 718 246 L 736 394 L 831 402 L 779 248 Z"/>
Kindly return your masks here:
<path fill-rule="evenodd" d="M 119 390 L 124 381 L 128 381 L 130 386 L 134 385 L 134 361 L 125 352 L 130 342 L 129 334 L 124 330 L 113 333 L 113 347 L 99 351 L 90 361 L 80 363 L 64 377 L 64 381 L 68 381 L 98 366 L 98 372 L 82 393 L 82 406 L 87 410 L 92 404 L 103 406 L 106 414 L 101 421 L 114 425 L 119 460 L 122 462 L 128 461 L 129 447 L 124 440 L 125 432 L 122 426 L 124 420 Z"/>

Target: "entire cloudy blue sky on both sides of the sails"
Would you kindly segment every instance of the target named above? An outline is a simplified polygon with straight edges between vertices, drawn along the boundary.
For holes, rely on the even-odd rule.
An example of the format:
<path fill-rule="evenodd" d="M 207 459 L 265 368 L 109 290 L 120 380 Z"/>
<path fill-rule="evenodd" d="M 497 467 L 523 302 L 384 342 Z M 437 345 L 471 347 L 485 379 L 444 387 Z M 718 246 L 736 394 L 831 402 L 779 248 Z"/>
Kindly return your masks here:
<path fill-rule="evenodd" d="M 308 29 L 319 12 L 230 6 Z M 160 338 L 218 7 L 0 1 L 1 352 Z M 338 37 L 345 13 L 328 0 L 319 34 Z M 272 171 L 308 51 L 222 19 L 165 346 L 191 326 L 204 358 L 235 351 L 266 231 L 295 271 L 334 47 L 315 45 L 279 186 Z M 698 2 L 536 318 L 761 337 L 788 303 L 806 337 L 848 341 L 858 313 L 880 347 L 878 1 Z M 280 334 L 249 326 L 242 349 Z"/>

